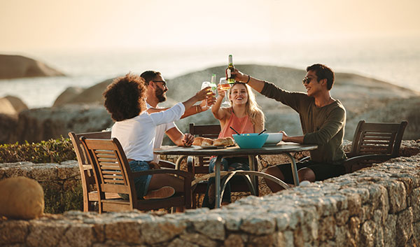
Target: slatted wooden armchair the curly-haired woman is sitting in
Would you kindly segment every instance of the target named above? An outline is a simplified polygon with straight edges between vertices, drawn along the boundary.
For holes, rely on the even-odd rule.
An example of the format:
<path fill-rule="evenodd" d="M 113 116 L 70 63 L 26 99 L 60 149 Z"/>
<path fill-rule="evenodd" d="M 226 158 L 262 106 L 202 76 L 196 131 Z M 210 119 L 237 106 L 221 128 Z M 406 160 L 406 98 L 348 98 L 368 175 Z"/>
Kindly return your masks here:
<path fill-rule="evenodd" d="M 191 182 L 193 174 L 176 169 L 155 169 L 133 172 L 118 139 L 80 138 L 93 166 L 98 188 L 99 213 L 106 211 L 148 211 L 172 206 L 191 208 Z M 174 174 L 184 179 L 184 192 L 166 199 L 138 199 L 134 178 L 153 174 Z M 127 194 L 129 199 L 108 199 L 106 193 Z"/>

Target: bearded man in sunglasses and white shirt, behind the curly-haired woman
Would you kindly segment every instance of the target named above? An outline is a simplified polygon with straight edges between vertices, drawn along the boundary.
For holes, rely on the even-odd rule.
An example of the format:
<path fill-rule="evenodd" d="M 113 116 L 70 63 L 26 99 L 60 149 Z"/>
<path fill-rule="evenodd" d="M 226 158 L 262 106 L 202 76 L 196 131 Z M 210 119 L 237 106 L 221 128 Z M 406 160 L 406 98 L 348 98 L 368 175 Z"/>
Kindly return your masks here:
<path fill-rule="evenodd" d="M 158 71 L 144 71 L 140 75 L 144 78 L 146 85 L 146 106 L 149 113 L 155 112 L 156 109 L 160 108 L 159 103 L 166 101 L 166 92 L 168 87 L 166 81 L 162 77 L 162 74 Z M 195 105 L 186 109 L 184 115 L 181 118 L 185 118 L 189 115 L 194 115 L 202 111 L 207 111 L 209 106 L 214 104 L 216 97 L 210 97 L 206 101 L 202 101 L 201 104 Z M 176 127 L 174 122 L 169 122 L 167 124 L 162 124 L 156 127 L 155 143 L 153 143 L 153 148 L 160 148 L 162 146 L 164 133 L 169 136 L 177 146 L 191 146 L 194 141 L 194 136 L 186 133 L 183 134 L 181 130 Z M 154 155 L 153 161 L 159 163 L 159 155 Z"/>

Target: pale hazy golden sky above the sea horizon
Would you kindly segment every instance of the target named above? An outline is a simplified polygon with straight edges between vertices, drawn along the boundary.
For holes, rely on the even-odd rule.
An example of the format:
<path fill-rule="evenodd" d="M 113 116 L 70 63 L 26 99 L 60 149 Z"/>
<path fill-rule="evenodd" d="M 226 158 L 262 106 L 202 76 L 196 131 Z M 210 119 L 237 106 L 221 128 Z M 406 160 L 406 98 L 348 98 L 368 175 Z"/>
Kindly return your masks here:
<path fill-rule="evenodd" d="M 0 52 L 419 36 L 419 0 L 0 0 Z"/>

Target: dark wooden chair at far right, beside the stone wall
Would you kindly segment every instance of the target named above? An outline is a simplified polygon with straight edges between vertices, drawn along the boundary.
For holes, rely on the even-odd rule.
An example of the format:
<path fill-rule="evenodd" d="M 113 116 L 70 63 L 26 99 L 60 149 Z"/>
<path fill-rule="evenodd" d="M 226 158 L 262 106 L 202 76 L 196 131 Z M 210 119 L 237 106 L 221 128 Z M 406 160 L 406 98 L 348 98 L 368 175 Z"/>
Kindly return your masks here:
<path fill-rule="evenodd" d="M 370 167 L 375 162 L 384 162 L 398 157 L 402 135 L 407 121 L 400 123 L 374 123 L 360 120 L 356 127 L 348 159 L 344 162 L 346 173 Z"/>

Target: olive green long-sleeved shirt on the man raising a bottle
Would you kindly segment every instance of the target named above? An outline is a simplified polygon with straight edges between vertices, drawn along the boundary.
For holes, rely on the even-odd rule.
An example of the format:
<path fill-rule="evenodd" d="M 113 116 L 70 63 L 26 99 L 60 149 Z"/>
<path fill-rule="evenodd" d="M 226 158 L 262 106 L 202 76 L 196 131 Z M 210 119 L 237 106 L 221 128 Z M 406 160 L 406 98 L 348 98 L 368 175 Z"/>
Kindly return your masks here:
<path fill-rule="evenodd" d="M 272 83 L 265 83 L 261 94 L 290 106 L 299 113 L 304 144 L 316 144 L 311 160 L 341 164 L 345 159 L 342 143 L 346 125 L 346 109 L 338 100 L 323 107 L 315 105 L 313 97 L 303 92 L 288 92 Z"/>

